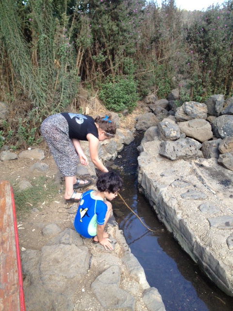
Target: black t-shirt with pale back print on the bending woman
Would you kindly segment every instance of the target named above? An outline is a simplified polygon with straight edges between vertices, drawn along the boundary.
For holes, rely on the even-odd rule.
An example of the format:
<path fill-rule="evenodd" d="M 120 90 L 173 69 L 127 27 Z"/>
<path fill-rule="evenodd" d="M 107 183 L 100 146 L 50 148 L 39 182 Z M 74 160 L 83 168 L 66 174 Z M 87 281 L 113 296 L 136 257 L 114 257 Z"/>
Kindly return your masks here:
<path fill-rule="evenodd" d="M 89 133 L 93 134 L 96 138 L 99 138 L 98 129 L 92 117 L 71 112 L 63 112 L 61 115 L 67 120 L 69 126 L 69 138 L 87 140 L 86 135 Z"/>

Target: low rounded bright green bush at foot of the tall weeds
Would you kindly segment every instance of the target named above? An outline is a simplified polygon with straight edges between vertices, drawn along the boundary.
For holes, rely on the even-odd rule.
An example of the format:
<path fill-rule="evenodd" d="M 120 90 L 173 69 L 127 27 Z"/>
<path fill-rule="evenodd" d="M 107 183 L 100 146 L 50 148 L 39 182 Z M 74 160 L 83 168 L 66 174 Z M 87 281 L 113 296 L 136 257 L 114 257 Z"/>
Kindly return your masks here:
<path fill-rule="evenodd" d="M 107 82 L 101 85 L 100 100 L 109 110 L 128 109 L 131 112 L 138 100 L 137 85 L 129 77 L 120 78 L 116 82 L 107 79 Z"/>

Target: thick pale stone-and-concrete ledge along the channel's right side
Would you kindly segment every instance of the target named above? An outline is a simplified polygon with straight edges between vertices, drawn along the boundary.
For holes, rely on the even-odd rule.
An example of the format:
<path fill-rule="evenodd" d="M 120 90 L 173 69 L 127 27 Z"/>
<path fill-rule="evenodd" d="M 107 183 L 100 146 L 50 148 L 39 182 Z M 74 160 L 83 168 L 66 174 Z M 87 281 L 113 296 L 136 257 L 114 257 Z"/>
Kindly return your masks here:
<path fill-rule="evenodd" d="M 233 296 L 233 250 L 227 243 L 233 220 L 232 172 L 213 159 L 168 160 L 158 154 L 159 143 L 147 142 L 138 157 L 141 191 L 184 251 Z"/>

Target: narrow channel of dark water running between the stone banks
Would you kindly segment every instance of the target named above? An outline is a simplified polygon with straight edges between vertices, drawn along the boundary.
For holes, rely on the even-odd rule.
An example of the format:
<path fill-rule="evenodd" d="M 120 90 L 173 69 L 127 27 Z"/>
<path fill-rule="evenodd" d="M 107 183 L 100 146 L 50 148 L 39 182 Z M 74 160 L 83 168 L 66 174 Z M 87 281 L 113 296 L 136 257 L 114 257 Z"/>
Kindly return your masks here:
<path fill-rule="evenodd" d="M 142 134 L 114 161 L 122 167 L 122 198 L 156 232 L 149 231 L 117 197 L 114 215 L 133 255 L 144 268 L 150 287 L 158 289 L 166 311 L 233 311 L 233 297 L 220 291 L 181 249 L 172 234 L 158 221 L 152 207 L 137 188 L 137 146 Z"/>

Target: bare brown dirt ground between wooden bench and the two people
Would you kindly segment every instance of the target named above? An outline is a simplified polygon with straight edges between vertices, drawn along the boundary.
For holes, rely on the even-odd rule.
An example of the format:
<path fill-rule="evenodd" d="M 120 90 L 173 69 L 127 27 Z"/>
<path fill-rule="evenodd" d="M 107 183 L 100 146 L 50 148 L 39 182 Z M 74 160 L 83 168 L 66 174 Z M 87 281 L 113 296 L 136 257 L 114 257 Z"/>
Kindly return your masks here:
<path fill-rule="evenodd" d="M 0 161 L 0 179 L 8 180 L 12 186 L 16 185 L 20 180 L 30 180 L 36 177 L 30 171 L 30 167 L 38 162 L 36 159 L 25 159 L 18 157 L 15 160 Z M 41 162 L 49 165 L 49 171 L 46 173 L 48 180 L 54 179 L 58 173 L 57 166 L 51 155 L 46 156 Z M 46 185 L 45 185 L 46 187 Z M 48 201 L 39 202 L 38 206 L 33 206 L 27 202 L 30 212 L 17 215 L 19 248 L 40 249 L 44 246 L 48 239 L 45 238 L 41 229 L 49 223 L 56 223 L 62 230 L 69 227 L 73 229 L 73 220 L 75 214 L 68 213 L 69 207 L 73 204 L 66 203 L 64 200 L 64 182 L 57 184 L 57 193 L 52 194 Z M 87 190 L 85 187 L 83 190 Z M 37 210 L 38 209 L 38 210 Z"/>

